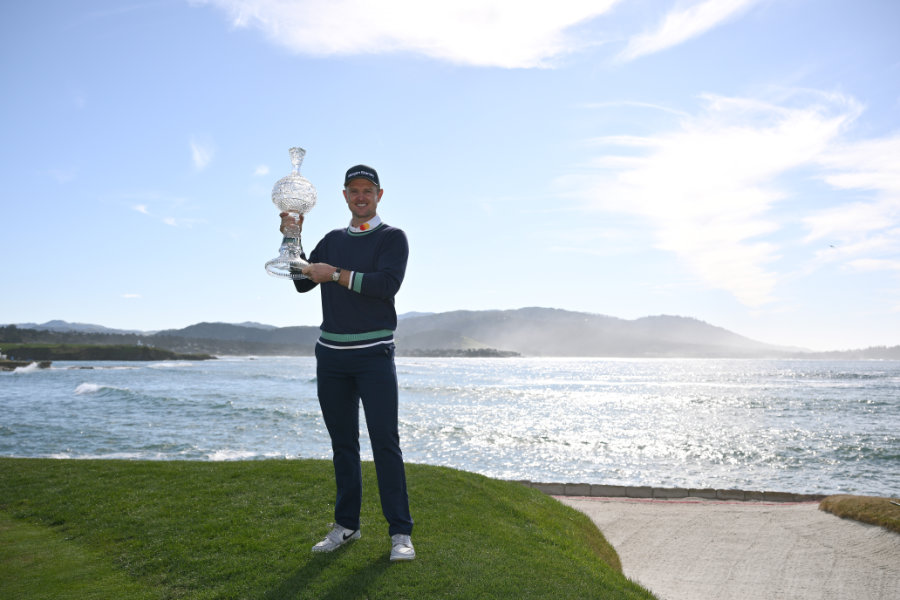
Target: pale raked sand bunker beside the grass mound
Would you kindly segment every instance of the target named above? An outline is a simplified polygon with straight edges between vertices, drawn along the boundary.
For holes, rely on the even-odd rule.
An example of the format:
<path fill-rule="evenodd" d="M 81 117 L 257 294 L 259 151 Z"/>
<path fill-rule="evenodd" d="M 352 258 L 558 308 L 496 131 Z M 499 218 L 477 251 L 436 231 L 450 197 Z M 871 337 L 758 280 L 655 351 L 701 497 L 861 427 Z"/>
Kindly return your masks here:
<path fill-rule="evenodd" d="M 896 600 L 900 535 L 769 503 L 556 496 L 615 547 L 660 600 Z"/>

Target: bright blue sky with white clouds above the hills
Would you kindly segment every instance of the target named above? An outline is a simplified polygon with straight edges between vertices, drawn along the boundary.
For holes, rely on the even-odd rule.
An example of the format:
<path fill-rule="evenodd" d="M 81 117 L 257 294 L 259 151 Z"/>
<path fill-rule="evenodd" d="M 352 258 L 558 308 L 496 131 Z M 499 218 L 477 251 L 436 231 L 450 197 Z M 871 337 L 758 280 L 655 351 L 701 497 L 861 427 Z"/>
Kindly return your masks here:
<path fill-rule="evenodd" d="M 683 315 L 900 344 L 893 0 L 40 1 L 0 8 L 0 323 L 318 325 L 266 275 L 288 148 L 398 312 Z"/>

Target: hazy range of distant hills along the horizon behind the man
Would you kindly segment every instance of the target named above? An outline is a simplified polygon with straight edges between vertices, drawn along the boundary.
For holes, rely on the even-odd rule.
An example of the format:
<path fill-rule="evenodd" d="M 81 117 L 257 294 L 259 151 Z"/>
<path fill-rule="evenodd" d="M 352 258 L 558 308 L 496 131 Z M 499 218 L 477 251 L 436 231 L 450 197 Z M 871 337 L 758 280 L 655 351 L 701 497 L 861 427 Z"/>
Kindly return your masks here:
<path fill-rule="evenodd" d="M 53 324 L 53 328 L 45 327 Z M 130 332 L 50 321 L 40 330 L 0 327 L 3 342 L 147 344 L 179 353 L 311 355 L 317 327 L 197 323 L 182 329 Z M 407 313 L 399 320 L 399 355 L 746 357 L 900 360 L 900 346 L 814 353 L 766 344 L 691 317 L 626 320 L 552 308 Z"/>

